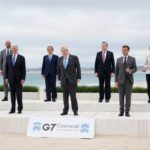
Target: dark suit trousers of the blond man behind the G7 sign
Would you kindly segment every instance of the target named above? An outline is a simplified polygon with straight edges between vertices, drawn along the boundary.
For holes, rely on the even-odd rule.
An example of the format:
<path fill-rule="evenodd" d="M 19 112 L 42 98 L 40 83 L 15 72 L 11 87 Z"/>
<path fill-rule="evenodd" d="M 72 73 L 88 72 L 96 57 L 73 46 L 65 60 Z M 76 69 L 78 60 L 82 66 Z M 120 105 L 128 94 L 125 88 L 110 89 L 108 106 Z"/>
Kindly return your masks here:
<path fill-rule="evenodd" d="M 78 112 L 78 102 L 76 98 L 77 84 L 72 84 L 66 79 L 66 84 L 62 85 L 63 89 L 63 112 L 67 113 L 69 110 L 69 95 L 71 97 L 71 106 L 74 113 Z"/>

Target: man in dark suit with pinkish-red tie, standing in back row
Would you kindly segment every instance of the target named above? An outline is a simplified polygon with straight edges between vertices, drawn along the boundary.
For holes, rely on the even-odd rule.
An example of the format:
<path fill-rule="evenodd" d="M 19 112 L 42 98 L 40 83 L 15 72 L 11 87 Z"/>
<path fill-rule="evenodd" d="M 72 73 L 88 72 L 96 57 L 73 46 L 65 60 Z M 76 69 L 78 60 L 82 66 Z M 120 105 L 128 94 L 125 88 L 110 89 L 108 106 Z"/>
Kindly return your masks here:
<path fill-rule="evenodd" d="M 102 51 L 97 53 L 95 60 L 95 75 L 99 79 L 99 102 L 111 98 L 111 76 L 115 73 L 115 60 L 112 52 L 108 51 L 108 43 L 102 42 Z M 105 86 L 104 86 L 105 85 Z"/>

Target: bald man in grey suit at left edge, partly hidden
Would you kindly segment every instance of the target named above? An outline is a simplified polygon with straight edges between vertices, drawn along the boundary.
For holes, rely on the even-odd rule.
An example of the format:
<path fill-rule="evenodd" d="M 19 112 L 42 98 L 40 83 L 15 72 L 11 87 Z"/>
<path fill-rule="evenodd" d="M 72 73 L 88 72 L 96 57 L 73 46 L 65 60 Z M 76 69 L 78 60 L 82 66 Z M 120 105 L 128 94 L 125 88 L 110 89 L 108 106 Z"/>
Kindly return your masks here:
<path fill-rule="evenodd" d="M 8 101 L 8 91 L 9 87 L 8 84 L 5 82 L 5 66 L 6 66 L 6 57 L 10 54 L 12 54 L 11 51 L 11 42 L 6 41 L 5 42 L 6 48 L 0 52 L 0 75 L 3 76 L 3 81 L 4 81 L 4 98 L 2 101 Z"/>

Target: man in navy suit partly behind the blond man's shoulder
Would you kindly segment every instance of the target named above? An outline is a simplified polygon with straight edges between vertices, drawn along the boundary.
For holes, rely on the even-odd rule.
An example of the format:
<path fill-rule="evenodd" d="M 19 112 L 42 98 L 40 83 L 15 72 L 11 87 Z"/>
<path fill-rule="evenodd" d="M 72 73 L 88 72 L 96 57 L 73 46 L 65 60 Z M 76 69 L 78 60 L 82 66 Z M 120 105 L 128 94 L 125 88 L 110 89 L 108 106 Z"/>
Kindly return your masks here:
<path fill-rule="evenodd" d="M 56 75 L 57 75 L 57 62 L 58 56 L 53 55 L 54 48 L 52 46 L 47 47 L 48 55 L 43 57 L 43 64 L 41 74 L 45 78 L 46 84 L 46 100 L 45 102 L 55 102 L 57 99 L 56 92 Z"/>

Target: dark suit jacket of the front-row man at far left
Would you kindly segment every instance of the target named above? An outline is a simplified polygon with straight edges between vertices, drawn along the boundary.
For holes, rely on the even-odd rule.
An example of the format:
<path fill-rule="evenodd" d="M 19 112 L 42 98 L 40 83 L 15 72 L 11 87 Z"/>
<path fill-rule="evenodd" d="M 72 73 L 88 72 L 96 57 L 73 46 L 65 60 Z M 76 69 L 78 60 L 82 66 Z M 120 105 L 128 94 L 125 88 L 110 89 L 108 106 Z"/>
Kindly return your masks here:
<path fill-rule="evenodd" d="M 19 82 L 25 80 L 26 77 L 26 65 L 25 58 L 18 54 L 15 66 L 12 63 L 12 55 L 6 58 L 6 68 L 5 68 L 5 79 L 9 82 Z"/>

